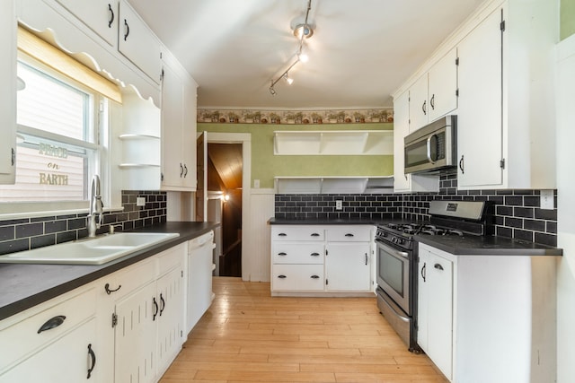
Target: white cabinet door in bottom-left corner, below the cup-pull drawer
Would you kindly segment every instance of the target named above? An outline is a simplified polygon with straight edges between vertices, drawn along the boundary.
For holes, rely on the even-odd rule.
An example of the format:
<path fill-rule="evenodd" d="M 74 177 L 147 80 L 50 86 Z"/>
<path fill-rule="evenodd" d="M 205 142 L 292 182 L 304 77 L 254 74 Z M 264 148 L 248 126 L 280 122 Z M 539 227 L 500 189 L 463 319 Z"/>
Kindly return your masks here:
<path fill-rule="evenodd" d="M 97 361 L 101 352 L 92 318 L 6 371 L 0 376 L 0 383 L 98 381 Z"/>

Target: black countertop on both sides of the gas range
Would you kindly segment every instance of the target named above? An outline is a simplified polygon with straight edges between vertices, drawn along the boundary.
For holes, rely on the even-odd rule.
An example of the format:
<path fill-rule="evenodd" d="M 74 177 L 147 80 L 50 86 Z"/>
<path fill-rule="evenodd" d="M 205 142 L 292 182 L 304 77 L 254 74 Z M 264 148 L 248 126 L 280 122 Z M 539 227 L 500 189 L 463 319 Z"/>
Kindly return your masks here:
<path fill-rule="evenodd" d="M 369 219 L 330 220 L 330 219 L 288 219 L 270 218 L 270 225 L 377 225 L 388 222 L 409 223 L 402 220 L 374 221 Z M 414 237 L 420 243 L 425 243 L 433 248 L 439 248 L 456 256 L 562 256 L 562 248 L 540 245 L 525 240 L 510 239 L 494 236 L 431 236 L 416 235 Z"/>

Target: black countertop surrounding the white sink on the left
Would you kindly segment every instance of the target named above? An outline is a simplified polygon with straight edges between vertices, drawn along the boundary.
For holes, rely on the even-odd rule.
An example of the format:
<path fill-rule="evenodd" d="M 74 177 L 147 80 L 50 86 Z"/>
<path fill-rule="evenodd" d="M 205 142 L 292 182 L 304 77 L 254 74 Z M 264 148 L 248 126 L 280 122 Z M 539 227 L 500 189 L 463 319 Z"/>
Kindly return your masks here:
<path fill-rule="evenodd" d="M 135 230 L 177 232 L 180 236 L 104 265 L 0 264 L 0 320 L 199 237 L 217 226 L 216 222 L 165 222 Z"/>

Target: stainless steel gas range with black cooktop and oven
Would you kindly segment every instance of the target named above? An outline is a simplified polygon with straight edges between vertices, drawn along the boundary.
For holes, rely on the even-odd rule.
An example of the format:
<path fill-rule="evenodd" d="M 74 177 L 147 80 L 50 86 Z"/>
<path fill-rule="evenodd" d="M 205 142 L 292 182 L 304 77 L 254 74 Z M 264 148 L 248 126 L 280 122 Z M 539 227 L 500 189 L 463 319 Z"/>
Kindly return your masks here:
<path fill-rule="evenodd" d="M 485 202 L 432 201 L 429 222 L 389 222 L 376 231 L 377 306 L 412 353 L 417 344 L 417 236 L 491 233 Z"/>

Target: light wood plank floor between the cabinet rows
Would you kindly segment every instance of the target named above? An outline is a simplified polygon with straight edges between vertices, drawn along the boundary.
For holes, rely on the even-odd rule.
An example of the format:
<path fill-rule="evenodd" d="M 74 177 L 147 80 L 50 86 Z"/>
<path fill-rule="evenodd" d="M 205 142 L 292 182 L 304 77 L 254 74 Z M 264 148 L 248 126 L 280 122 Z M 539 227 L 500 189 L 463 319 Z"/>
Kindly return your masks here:
<path fill-rule="evenodd" d="M 161 383 L 447 382 L 375 298 L 272 298 L 270 283 L 214 279 L 214 300 Z"/>

